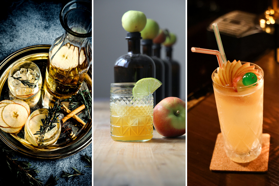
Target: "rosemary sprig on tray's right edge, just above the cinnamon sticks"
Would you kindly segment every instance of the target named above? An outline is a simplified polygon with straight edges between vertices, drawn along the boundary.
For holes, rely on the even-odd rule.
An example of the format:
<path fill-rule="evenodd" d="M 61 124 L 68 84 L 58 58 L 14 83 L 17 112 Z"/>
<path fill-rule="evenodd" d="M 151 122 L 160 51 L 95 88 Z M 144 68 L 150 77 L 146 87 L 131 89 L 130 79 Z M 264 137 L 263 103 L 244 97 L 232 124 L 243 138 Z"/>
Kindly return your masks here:
<path fill-rule="evenodd" d="M 85 109 L 88 112 L 88 119 L 91 119 L 89 109 L 92 109 L 92 98 L 91 98 L 90 92 L 87 89 L 83 90 L 83 91 L 79 90 L 76 95 L 73 95 L 72 97 L 68 98 L 67 100 L 70 101 L 70 103 L 69 103 L 70 110 L 74 110 L 78 106 L 84 104 Z"/>

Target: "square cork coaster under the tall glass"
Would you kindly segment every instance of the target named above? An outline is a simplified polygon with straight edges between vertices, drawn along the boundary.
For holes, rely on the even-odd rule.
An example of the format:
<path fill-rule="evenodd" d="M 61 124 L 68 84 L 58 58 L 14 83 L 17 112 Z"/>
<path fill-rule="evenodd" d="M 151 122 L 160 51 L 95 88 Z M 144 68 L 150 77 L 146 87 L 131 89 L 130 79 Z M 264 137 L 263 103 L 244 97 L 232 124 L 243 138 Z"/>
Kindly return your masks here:
<path fill-rule="evenodd" d="M 261 154 L 248 163 L 236 163 L 226 155 L 222 133 L 217 136 L 213 156 L 210 163 L 211 171 L 244 171 L 244 172 L 266 172 L 269 156 L 269 134 L 262 134 Z"/>

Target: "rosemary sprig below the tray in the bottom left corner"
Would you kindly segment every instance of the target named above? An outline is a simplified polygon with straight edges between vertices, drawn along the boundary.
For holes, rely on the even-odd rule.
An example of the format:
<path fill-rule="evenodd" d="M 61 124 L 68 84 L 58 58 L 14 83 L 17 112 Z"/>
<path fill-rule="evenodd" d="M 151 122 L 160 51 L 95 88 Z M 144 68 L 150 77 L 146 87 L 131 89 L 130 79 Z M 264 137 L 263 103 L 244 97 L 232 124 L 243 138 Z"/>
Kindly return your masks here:
<path fill-rule="evenodd" d="M 27 161 L 19 161 L 18 158 L 13 158 L 14 151 L 8 150 L 4 143 L 0 142 L 0 167 L 1 176 L 7 174 L 6 168 L 9 168 L 12 175 L 16 177 L 16 182 L 22 185 L 37 185 L 41 186 L 43 183 L 40 178 L 36 178 L 40 172 L 38 168 L 31 167 L 31 164 Z M 9 174 L 9 173 L 8 173 Z M 5 177 L 5 176 L 4 176 Z M 8 175 L 10 177 L 10 175 Z"/>

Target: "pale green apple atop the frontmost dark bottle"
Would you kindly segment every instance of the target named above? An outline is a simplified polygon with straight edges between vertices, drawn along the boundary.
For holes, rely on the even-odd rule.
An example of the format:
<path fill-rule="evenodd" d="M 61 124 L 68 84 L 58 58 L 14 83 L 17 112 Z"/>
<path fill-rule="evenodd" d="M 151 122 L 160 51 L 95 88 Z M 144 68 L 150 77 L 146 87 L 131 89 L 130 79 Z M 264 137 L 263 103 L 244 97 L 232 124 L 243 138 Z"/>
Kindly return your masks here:
<path fill-rule="evenodd" d="M 127 32 L 140 32 L 146 25 L 146 16 L 143 12 L 129 10 L 122 16 L 121 21 Z"/>

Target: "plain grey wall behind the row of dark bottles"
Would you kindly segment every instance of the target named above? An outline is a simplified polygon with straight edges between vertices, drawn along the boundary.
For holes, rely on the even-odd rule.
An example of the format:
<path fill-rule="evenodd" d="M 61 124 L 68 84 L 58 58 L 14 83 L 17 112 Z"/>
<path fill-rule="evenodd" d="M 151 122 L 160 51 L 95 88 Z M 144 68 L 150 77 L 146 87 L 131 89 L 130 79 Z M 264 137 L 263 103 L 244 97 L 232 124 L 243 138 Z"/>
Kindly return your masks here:
<path fill-rule="evenodd" d="M 186 4 L 183 0 L 95 0 L 94 1 L 93 86 L 94 100 L 109 99 L 110 83 L 114 82 L 113 66 L 116 59 L 128 53 L 126 31 L 121 24 L 123 14 L 129 10 L 142 11 L 154 19 L 159 27 L 177 35 L 173 46 L 173 59 L 181 65 L 182 99 L 186 99 Z M 161 49 L 165 58 L 165 49 Z"/>

